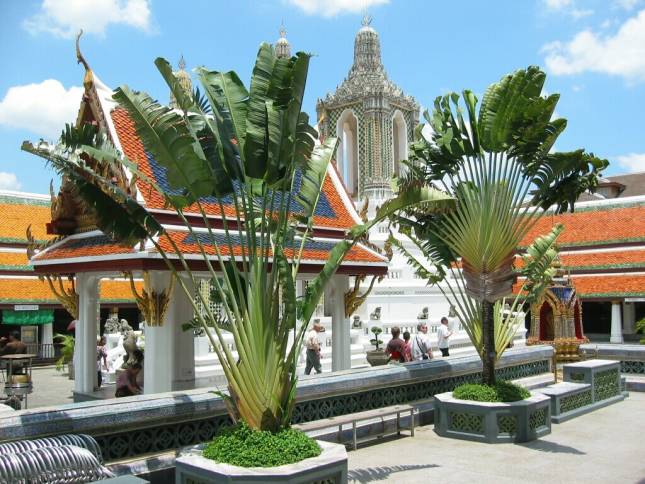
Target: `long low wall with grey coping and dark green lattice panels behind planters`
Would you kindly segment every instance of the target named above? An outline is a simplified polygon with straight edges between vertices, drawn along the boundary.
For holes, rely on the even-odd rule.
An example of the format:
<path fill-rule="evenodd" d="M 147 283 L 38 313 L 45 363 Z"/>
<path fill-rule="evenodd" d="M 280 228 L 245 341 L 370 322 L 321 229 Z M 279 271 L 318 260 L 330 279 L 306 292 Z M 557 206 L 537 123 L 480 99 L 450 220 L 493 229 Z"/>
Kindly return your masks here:
<path fill-rule="evenodd" d="M 512 380 L 542 375 L 551 371 L 552 358 L 550 346 L 513 348 L 498 362 L 498 376 Z M 479 357 L 470 355 L 302 378 L 293 422 L 428 400 L 478 381 L 480 374 Z M 199 389 L 0 415 L 0 441 L 89 434 L 98 441 L 105 460 L 114 462 L 209 440 L 228 423 L 222 399 Z"/>

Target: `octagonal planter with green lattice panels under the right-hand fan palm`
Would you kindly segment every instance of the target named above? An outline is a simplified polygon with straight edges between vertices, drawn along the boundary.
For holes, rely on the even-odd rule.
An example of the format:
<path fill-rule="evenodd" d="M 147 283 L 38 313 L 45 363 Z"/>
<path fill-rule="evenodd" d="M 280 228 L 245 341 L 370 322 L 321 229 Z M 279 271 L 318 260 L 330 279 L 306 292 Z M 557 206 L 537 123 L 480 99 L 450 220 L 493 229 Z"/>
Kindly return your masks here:
<path fill-rule="evenodd" d="M 434 396 L 434 430 L 442 437 L 490 444 L 529 442 L 551 433 L 551 399 L 531 393 L 519 402 L 473 402 Z"/>

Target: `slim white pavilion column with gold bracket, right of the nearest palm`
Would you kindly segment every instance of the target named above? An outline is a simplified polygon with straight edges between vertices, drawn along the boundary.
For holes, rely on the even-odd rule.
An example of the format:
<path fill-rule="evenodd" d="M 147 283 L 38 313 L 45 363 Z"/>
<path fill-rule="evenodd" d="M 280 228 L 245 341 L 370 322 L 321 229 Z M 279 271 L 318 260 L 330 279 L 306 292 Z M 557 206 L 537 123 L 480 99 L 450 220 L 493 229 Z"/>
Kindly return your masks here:
<path fill-rule="evenodd" d="M 350 322 L 345 317 L 345 293 L 349 290 L 349 276 L 336 274 L 325 292 L 325 304 L 331 312 L 331 368 L 332 371 L 352 367 Z"/>

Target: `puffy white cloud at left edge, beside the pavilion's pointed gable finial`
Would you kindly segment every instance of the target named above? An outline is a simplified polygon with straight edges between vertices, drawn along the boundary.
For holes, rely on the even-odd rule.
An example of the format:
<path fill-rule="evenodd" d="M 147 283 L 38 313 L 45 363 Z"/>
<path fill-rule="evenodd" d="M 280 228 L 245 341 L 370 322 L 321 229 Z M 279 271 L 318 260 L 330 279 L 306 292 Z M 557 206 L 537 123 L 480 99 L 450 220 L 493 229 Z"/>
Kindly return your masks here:
<path fill-rule="evenodd" d="M 56 79 L 10 87 L 0 101 L 0 125 L 55 139 L 65 123 L 76 121 L 83 88 L 69 89 Z"/>

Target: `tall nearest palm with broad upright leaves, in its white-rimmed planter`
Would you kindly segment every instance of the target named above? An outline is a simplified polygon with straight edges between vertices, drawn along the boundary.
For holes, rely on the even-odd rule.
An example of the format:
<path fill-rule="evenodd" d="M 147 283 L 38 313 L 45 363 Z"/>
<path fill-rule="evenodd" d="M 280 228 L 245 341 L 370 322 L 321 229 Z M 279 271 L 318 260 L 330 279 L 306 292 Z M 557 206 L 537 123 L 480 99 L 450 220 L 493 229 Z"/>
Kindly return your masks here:
<path fill-rule="evenodd" d="M 317 132 L 301 112 L 309 59 L 304 53 L 279 58 L 271 45 L 262 44 L 250 89 L 235 72 L 198 68 L 203 91 L 190 92 L 175 77 L 170 64 L 158 58 L 155 64 L 177 109 L 127 86 L 118 88 L 113 96 L 118 109 L 127 113 L 145 151 L 167 173 L 164 186 L 90 125 L 68 126 L 61 143 L 54 147 L 44 142 L 23 144 L 23 149 L 48 159 L 75 185 L 105 234 L 121 243 L 145 241 L 154 247 L 193 305 L 227 379 L 228 391 L 219 395 L 231 419 L 238 423 L 235 430 L 221 436 L 226 442 L 214 445 L 212 452 L 202 446 L 190 450 L 185 460 L 177 459 L 178 472 L 199 468 L 191 475 L 208 482 L 219 479 L 220 472 L 244 474 L 244 469 L 231 465 L 231 456 L 243 448 L 265 455 L 263 432 L 276 437 L 271 445 L 281 446 L 271 455 L 292 455 L 288 450 L 295 437 L 289 427 L 296 396 L 296 365 L 306 328 L 325 285 L 352 246 L 397 210 L 416 204 L 444 210 L 454 204 L 452 197 L 427 185 L 399 192 L 381 205 L 373 220 L 347 232 L 297 300 L 295 280 L 338 143 L 328 138 L 316 146 Z M 181 220 L 197 247 L 190 258 L 172 233 L 139 202 L 136 187 L 115 182 L 125 179 L 126 171 L 144 183 L 146 190 L 156 192 L 165 208 Z M 186 217 L 187 211 L 191 217 Z M 213 212 L 225 214 L 220 215 L 217 228 L 213 228 Z M 234 248 L 239 248 L 239 253 Z M 235 263 L 231 263 L 226 254 L 234 253 Z M 177 277 L 180 268 L 196 286 L 197 275 L 191 266 L 196 257 L 202 261 L 199 270 L 208 271 L 219 294 L 226 329 L 234 337 L 238 355 L 230 351 L 219 318 L 202 291 L 195 297 L 184 277 Z M 293 344 L 289 343 L 291 334 L 295 336 Z M 265 472 L 267 476 L 277 472 L 285 480 L 284 473 L 291 472 L 311 473 L 307 474 L 313 476 L 311 480 L 327 479 L 329 476 L 316 473 L 334 462 L 343 461 L 345 469 L 347 465 L 344 448 L 341 452 L 332 446 L 328 452 L 330 445 L 319 444 L 313 452 L 319 452 L 317 457 L 297 453 L 298 459 L 306 457 L 302 462 L 264 460 L 253 464 L 283 463 L 296 469 L 279 466 L 266 471 L 254 468 L 252 472 L 256 479 L 258 473 Z"/>

